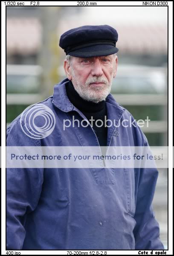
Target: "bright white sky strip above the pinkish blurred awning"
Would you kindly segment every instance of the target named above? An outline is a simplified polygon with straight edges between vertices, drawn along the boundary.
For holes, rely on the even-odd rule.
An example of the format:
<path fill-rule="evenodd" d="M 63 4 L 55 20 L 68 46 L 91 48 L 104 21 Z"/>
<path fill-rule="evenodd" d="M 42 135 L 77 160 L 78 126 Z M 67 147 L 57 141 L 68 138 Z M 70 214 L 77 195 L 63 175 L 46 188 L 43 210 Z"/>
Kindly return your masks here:
<path fill-rule="evenodd" d="M 84 22 L 97 23 L 167 23 L 167 6 L 96 6 L 83 7 Z"/>

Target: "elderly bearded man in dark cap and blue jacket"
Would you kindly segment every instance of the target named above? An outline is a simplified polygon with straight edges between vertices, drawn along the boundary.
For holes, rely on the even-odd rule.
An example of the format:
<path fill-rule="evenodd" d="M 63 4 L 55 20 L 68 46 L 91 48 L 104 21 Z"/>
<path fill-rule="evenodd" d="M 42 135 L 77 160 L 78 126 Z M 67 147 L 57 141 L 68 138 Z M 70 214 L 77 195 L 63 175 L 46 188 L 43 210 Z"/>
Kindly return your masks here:
<path fill-rule="evenodd" d="M 67 79 L 41 102 L 54 114 L 55 127 L 47 137 L 34 136 L 28 127 L 30 135 L 26 133 L 27 113 L 38 103 L 9 125 L 7 146 L 101 147 L 104 156 L 105 146 L 148 145 L 138 126 L 114 125 L 131 116 L 110 94 L 117 39 L 116 30 L 107 25 L 82 26 L 61 35 Z M 73 119 L 79 122 L 72 124 Z M 71 124 L 65 125 L 67 120 Z M 106 120 L 115 122 L 106 125 Z M 44 127 L 43 116 L 37 123 Z M 157 169 L 104 164 L 8 168 L 7 249 L 164 249 L 152 209 Z"/>

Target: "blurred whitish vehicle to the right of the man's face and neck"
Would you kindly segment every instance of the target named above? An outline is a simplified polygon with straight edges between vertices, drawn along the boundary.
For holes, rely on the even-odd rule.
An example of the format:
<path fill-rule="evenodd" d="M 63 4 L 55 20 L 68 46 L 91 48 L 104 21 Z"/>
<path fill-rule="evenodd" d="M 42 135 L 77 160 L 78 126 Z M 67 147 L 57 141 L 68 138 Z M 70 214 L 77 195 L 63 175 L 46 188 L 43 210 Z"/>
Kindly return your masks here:
<path fill-rule="evenodd" d="M 141 65 L 119 65 L 112 93 L 165 93 L 165 69 Z"/>

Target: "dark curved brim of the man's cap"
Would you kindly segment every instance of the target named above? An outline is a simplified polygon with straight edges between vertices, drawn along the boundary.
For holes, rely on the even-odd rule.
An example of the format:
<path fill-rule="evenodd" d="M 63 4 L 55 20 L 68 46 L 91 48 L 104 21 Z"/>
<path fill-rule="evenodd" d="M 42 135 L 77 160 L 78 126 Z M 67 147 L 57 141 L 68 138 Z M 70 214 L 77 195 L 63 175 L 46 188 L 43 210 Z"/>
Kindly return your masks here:
<path fill-rule="evenodd" d="M 94 56 L 107 56 L 118 52 L 119 49 L 108 44 L 93 45 L 90 47 L 81 48 L 72 52 L 69 55 L 75 57 L 94 57 Z"/>

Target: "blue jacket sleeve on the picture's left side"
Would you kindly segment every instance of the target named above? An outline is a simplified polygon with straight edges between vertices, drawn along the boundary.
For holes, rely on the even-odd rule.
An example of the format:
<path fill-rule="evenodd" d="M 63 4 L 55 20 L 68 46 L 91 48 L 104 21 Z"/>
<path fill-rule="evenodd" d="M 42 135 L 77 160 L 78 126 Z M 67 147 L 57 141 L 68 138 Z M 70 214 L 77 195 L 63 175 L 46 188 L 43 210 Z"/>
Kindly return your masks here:
<path fill-rule="evenodd" d="M 36 146 L 27 137 L 18 121 L 7 128 L 7 146 Z M 20 250 L 25 239 L 25 221 L 39 201 L 43 183 L 43 169 L 6 169 L 6 250 Z"/>

